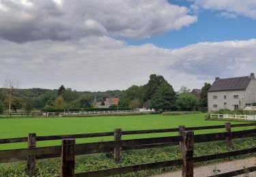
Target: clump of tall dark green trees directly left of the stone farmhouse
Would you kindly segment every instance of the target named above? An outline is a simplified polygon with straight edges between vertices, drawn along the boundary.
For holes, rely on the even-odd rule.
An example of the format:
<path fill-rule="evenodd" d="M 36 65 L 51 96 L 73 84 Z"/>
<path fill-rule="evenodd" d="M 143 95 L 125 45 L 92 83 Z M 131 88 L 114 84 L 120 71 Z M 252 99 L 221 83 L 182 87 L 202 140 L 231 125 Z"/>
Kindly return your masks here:
<path fill-rule="evenodd" d="M 154 108 L 156 110 L 195 110 L 208 106 L 208 90 L 211 84 L 205 83 L 201 88 L 201 99 L 182 86 L 177 93 L 163 76 L 150 75 L 147 84 L 130 86 L 120 97 L 119 106 L 129 108 Z"/>

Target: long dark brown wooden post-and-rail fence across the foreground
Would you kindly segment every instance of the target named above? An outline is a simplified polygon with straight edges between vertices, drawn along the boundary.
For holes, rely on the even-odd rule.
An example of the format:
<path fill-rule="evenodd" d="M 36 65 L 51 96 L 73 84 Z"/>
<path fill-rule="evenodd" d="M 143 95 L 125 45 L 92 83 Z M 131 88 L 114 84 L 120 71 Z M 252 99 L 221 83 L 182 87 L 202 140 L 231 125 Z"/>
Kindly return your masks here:
<path fill-rule="evenodd" d="M 52 135 L 52 136 L 36 136 L 35 133 L 29 133 L 25 138 L 10 138 L 0 140 L 0 144 L 14 143 L 14 142 L 28 142 L 28 147 L 23 149 L 0 150 L 0 163 L 8 163 L 14 161 L 27 161 L 27 174 L 29 176 L 35 175 L 35 161 L 36 159 L 48 159 L 53 157 L 61 157 L 60 176 L 109 176 L 115 174 L 126 174 L 129 172 L 137 172 L 141 170 L 150 170 L 161 167 L 172 167 L 182 165 L 182 176 L 193 176 L 193 165 L 203 161 L 212 161 L 215 159 L 224 159 L 227 157 L 235 157 L 238 155 L 246 155 L 256 152 L 255 148 L 244 150 L 236 150 L 231 152 L 223 152 L 214 155 L 205 155 L 201 157 L 194 157 L 193 150 L 195 143 L 214 142 L 225 140 L 227 147 L 233 148 L 232 139 L 250 138 L 256 136 L 256 129 L 249 129 L 244 131 L 231 131 L 231 127 L 248 127 L 256 126 L 256 123 L 231 125 L 214 125 L 205 127 L 185 127 L 179 126 L 173 129 L 152 129 L 139 131 L 122 131 L 122 129 L 115 129 L 113 132 L 104 133 L 87 133 L 76 135 Z M 195 130 L 202 129 L 223 129 L 223 133 L 208 133 L 201 135 L 194 135 Z M 133 140 L 122 140 L 122 135 L 143 134 L 143 133 L 164 133 L 164 132 L 178 132 L 177 136 L 160 137 L 160 138 L 141 138 Z M 91 138 L 114 135 L 115 140 L 109 142 L 94 142 L 85 144 L 75 144 L 76 138 Z M 44 140 L 62 140 L 61 146 L 46 146 L 36 147 L 36 142 Z M 141 165 L 131 165 L 126 167 L 117 167 L 113 169 L 98 170 L 94 172 L 84 172 L 74 174 L 74 164 L 76 155 L 88 155 L 101 152 L 114 152 L 116 163 L 122 162 L 122 150 L 156 148 L 161 146 L 175 146 L 180 145 L 180 152 L 182 159 L 171 161 L 160 161 L 155 163 L 145 163 Z M 239 170 L 238 170 L 239 171 Z M 255 167 L 249 167 L 244 170 L 246 172 L 256 171 Z M 239 171 L 242 174 L 241 170 Z M 237 173 L 229 172 L 229 174 Z M 230 175 L 227 176 L 230 176 Z M 220 174 L 221 176 L 223 174 Z M 226 175 L 226 174 L 225 174 Z M 218 176 L 218 175 L 217 175 Z"/>

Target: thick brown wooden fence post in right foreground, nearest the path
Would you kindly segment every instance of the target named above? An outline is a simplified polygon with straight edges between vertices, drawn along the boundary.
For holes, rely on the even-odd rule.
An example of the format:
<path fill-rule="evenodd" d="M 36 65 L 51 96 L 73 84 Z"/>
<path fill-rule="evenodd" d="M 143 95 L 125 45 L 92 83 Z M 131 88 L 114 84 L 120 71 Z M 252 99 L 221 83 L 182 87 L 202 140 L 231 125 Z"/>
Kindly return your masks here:
<path fill-rule="evenodd" d="M 182 133 L 182 177 L 193 177 L 194 132 Z"/>

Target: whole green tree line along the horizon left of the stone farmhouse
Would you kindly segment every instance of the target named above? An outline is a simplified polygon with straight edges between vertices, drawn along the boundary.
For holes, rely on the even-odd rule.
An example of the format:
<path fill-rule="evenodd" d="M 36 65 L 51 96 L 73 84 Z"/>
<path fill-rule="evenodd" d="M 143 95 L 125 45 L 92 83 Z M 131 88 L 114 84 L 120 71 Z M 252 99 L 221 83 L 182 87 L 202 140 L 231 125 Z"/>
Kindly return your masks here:
<path fill-rule="evenodd" d="M 19 109 L 31 112 L 33 109 L 77 109 L 95 108 L 96 102 L 104 106 L 106 97 L 119 97 L 119 108 L 154 108 L 156 110 L 195 110 L 198 106 L 207 107 L 208 89 L 211 84 L 205 83 L 201 89 L 201 99 L 182 86 L 175 92 L 173 86 L 163 76 L 150 75 L 147 84 L 132 85 L 125 91 L 79 92 L 61 85 L 57 89 L 28 88 L 20 89 L 13 80 L 5 82 L 0 88 L 0 113 L 4 110 Z"/>

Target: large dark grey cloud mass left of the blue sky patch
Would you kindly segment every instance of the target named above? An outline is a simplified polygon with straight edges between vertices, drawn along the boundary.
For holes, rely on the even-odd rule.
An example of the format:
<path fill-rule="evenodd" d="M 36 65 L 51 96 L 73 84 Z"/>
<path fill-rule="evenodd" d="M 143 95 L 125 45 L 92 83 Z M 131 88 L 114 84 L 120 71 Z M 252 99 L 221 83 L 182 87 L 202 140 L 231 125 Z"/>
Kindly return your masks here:
<path fill-rule="evenodd" d="M 145 38 L 197 21 L 167 0 L 0 1 L 0 37 L 14 42 L 87 36 Z"/>

